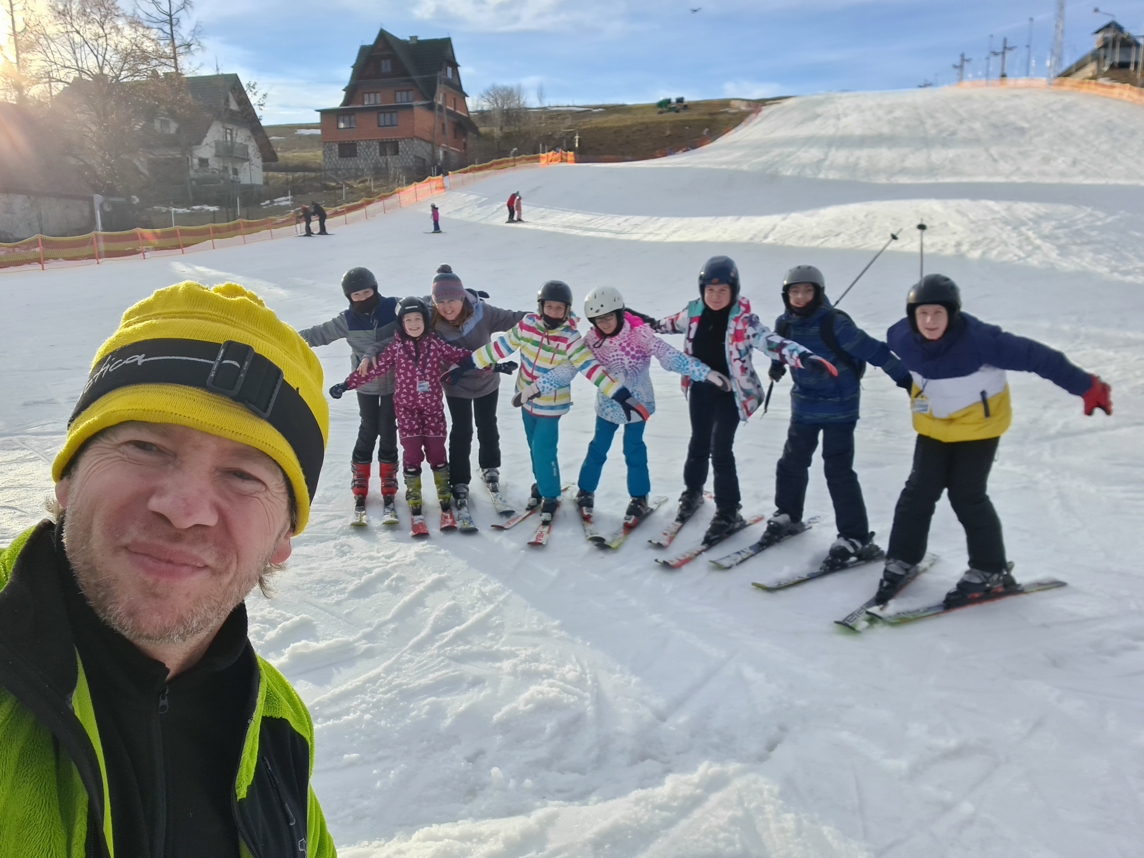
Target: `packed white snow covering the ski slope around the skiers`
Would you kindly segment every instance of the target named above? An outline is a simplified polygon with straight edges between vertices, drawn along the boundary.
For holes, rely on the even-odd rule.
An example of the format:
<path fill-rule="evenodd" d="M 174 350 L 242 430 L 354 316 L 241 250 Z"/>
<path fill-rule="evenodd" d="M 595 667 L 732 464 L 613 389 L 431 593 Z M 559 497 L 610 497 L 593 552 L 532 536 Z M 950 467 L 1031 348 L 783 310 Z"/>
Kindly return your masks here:
<path fill-rule="evenodd" d="M 557 277 L 578 301 L 611 284 L 666 315 L 696 294 L 704 260 L 729 253 L 770 324 L 788 267 L 819 265 L 837 296 L 895 231 L 842 304 L 883 334 L 916 280 L 924 220 L 925 270 L 961 284 L 969 312 L 1113 386 L 1115 415 L 1085 418 L 1078 398 L 1010 376 L 1014 427 L 991 494 L 1018 578 L 1068 587 L 861 635 L 832 620 L 873 593 L 876 565 L 780 593 L 750 587 L 815 563 L 833 540 L 817 464 L 808 515 L 824 523 L 729 572 L 704 558 L 670 572 L 652 562 L 661 555 L 645 540 L 670 503 L 614 554 L 588 546 L 567 509 L 547 548 L 524 545 L 526 525 L 491 531 L 476 485 L 477 535 L 351 531 L 350 398 L 331 404 L 313 515 L 278 595 L 248 601 L 252 639 L 310 706 L 315 787 L 351 858 L 1138 855 L 1141 140 L 1144 110 L 1097 96 L 821 95 L 660 162 L 524 169 L 436 197 L 443 236 L 426 235 L 426 200 L 333 220 L 332 237 L 310 241 L 0 275 L 0 543 L 41 514 L 96 347 L 157 287 L 236 280 L 303 326 L 344 307 L 347 268 L 371 268 L 386 294 L 424 294 L 448 262 L 501 307 L 532 307 Z M 514 190 L 526 222 L 510 225 Z M 347 351 L 318 350 L 327 383 L 348 372 Z M 652 374 L 652 492 L 674 501 L 686 407 L 675 376 Z M 856 467 L 884 545 L 914 436 L 901 391 L 875 368 L 864 386 Z M 522 502 L 524 434 L 501 390 L 503 486 Z M 770 413 L 739 430 L 745 513 L 771 508 L 788 391 L 784 381 Z M 594 395 L 579 379 L 562 420 L 565 482 Z M 597 492 L 604 530 L 619 526 L 623 474 L 615 444 Z M 676 546 L 693 545 L 710 511 Z M 904 605 L 939 598 L 964 569 L 945 503 L 930 549 L 942 559 Z"/>

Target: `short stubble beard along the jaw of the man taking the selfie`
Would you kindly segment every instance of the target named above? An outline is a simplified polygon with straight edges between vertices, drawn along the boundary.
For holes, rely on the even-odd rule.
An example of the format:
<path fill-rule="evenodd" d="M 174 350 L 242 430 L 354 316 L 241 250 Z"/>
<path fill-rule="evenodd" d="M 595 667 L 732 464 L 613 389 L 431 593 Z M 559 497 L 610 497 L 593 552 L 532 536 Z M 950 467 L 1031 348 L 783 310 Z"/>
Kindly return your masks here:
<path fill-rule="evenodd" d="M 181 644 L 217 628 L 255 586 L 260 586 L 269 595 L 267 581 L 283 565 L 270 562 L 278 542 L 276 539 L 265 556 L 251 570 L 233 575 L 222 589 L 212 588 L 182 615 L 165 621 L 158 628 L 149 627 L 140 615 L 146 609 L 138 604 L 137 597 L 121 593 L 121 582 L 108 570 L 100 567 L 92 547 L 92 516 L 85 515 L 85 511 L 82 503 L 70 505 L 63 517 L 63 541 L 67 561 L 92 610 L 135 645 Z M 279 534 L 279 539 L 285 532 L 286 529 Z M 162 596 L 162 585 L 152 583 L 148 589 L 152 596 Z"/>

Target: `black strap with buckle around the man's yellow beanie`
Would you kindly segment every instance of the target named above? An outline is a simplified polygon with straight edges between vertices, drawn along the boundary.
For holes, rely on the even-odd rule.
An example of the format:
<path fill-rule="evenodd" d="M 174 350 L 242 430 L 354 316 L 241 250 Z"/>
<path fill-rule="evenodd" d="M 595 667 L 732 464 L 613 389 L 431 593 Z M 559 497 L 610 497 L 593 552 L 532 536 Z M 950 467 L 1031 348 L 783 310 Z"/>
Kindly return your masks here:
<path fill-rule="evenodd" d="M 284 383 L 277 364 L 247 343 L 159 339 L 128 343 L 103 357 L 80 394 L 74 420 L 102 396 L 132 384 L 182 384 L 245 405 L 277 429 L 302 466 L 313 500 L 325 458 L 317 418 L 301 392 Z"/>

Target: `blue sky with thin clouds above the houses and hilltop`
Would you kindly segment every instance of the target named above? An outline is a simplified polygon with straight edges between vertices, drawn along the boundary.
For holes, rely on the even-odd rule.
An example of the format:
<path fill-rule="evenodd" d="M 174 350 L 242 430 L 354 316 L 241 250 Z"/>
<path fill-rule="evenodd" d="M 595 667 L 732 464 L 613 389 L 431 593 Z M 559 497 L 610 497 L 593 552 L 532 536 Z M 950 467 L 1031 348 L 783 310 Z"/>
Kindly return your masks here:
<path fill-rule="evenodd" d="M 698 13 L 690 8 L 701 7 Z M 399 37 L 451 35 L 470 104 L 488 84 L 522 84 L 546 103 L 649 102 L 898 89 L 948 84 L 961 51 L 984 77 L 990 34 L 1018 49 L 1024 73 L 1028 18 L 1043 69 L 1055 0 L 199 0 L 204 71 L 270 88 L 267 122 L 313 121 L 341 100 L 357 47 L 379 26 Z M 1133 32 L 1144 0 L 1112 0 Z M 1066 63 L 1109 19 L 1093 0 L 1070 2 Z M 993 59 L 993 76 L 999 59 Z"/>

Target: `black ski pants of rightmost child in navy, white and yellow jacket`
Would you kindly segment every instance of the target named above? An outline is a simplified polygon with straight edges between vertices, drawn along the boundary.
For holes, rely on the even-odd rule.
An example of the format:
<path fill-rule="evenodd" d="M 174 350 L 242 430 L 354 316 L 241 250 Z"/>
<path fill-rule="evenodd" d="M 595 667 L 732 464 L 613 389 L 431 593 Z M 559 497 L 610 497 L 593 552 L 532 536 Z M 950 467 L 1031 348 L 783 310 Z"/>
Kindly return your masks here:
<path fill-rule="evenodd" d="M 969 566 L 982 572 L 1006 567 L 1001 519 L 986 493 L 1000 438 L 943 442 L 917 436 L 914 468 L 893 510 L 887 556 L 919 563 L 925 556 L 934 509 L 948 490 L 950 506 L 966 529 Z"/>

